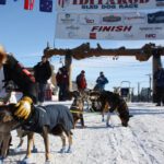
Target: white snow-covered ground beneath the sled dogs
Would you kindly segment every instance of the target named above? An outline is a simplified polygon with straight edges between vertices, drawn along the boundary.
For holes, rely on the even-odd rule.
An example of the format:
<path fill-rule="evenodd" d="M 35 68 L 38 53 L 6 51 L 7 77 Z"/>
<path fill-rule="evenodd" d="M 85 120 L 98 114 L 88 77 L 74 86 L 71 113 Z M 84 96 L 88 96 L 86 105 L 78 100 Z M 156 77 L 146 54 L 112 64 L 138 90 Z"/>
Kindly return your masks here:
<path fill-rule="evenodd" d="M 56 104 L 58 102 L 55 102 Z M 71 102 L 61 104 L 70 106 Z M 49 104 L 49 103 L 47 103 Z M 129 127 L 121 127 L 117 115 L 112 116 L 113 128 L 106 128 L 96 113 L 85 113 L 85 129 L 73 129 L 72 153 L 60 154 L 59 137 L 50 136 L 52 164 L 164 164 L 164 107 L 152 103 L 130 103 L 133 117 Z M 12 149 L 19 143 L 12 132 Z M 45 163 L 44 141 L 35 134 L 38 153 L 33 154 L 36 164 Z M 25 156 L 26 139 L 20 153 L 11 153 L 4 164 L 19 163 Z"/>

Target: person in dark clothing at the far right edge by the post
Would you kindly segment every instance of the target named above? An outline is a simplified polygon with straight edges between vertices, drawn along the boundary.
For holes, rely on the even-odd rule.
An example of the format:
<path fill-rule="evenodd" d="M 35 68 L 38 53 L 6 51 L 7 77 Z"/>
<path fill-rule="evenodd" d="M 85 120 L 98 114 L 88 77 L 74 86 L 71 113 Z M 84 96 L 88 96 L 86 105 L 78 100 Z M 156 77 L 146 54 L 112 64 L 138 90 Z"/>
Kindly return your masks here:
<path fill-rule="evenodd" d="M 154 80 L 156 82 L 156 106 L 164 105 L 164 69 L 160 66 L 154 73 Z"/>

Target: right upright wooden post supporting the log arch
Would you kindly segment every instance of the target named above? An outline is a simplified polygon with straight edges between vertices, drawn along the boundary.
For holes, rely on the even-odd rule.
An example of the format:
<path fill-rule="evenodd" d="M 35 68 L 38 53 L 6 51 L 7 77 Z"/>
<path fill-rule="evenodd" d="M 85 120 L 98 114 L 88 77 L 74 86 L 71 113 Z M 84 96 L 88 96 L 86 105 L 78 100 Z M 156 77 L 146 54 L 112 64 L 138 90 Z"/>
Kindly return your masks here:
<path fill-rule="evenodd" d="M 161 49 L 153 50 L 152 57 L 152 82 L 153 82 L 153 102 L 156 102 L 156 82 L 154 81 L 154 73 L 156 72 L 157 68 L 162 66 L 161 61 Z"/>

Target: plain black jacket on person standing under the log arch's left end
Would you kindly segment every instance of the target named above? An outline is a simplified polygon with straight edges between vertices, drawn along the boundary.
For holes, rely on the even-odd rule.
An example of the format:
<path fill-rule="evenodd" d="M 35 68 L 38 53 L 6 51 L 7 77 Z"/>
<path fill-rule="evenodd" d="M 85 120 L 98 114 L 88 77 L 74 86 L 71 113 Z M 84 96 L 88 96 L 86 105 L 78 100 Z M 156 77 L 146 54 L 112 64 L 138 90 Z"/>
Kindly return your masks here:
<path fill-rule="evenodd" d="M 51 68 L 49 61 L 45 63 L 38 62 L 34 67 L 34 77 L 36 82 L 47 83 L 47 80 L 51 77 Z"/>

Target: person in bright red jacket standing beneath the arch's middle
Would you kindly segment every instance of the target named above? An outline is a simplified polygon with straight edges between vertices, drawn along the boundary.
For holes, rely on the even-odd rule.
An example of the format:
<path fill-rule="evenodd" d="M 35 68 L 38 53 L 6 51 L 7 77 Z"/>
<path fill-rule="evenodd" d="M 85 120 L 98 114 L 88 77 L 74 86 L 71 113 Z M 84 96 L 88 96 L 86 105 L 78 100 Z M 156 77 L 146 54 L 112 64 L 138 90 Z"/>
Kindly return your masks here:
<path fill-rule="evenodd" d="M 77 86 L 79 92 L 83 94 L 84 90 L 87 86 L 84 70 L 82 70 L 81 73 L 77 77 Z"/>

